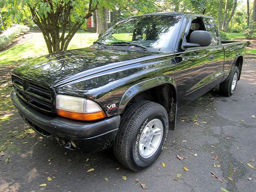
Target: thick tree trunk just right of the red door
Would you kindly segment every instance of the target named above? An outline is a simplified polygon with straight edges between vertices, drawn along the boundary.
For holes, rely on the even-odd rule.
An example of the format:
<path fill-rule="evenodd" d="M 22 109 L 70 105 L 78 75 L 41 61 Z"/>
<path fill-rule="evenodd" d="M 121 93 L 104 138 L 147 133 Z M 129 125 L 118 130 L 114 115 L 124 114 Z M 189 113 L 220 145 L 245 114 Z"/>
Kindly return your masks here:
<path fill-rule="evenodd" d="M 108 30 L 108 9 L 105 7 L 99 7 L 96 10 L 96 22 L 97 22 L 97 33 L 104 33 Z"/>

